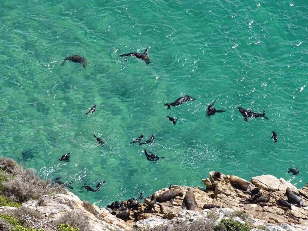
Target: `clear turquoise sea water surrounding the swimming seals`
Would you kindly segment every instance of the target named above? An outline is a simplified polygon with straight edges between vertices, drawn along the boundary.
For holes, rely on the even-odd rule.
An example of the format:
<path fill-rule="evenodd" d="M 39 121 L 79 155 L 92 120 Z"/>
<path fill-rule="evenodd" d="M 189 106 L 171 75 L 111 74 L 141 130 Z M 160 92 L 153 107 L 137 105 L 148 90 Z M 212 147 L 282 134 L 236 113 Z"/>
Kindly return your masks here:
<path fill-rule="evenodd" d="M 202 185 L 209 171 L 308 182 L 306 1 L 111 2 L 0 3 L 1 156 L 73 180 L 72 191 L 99 206 Z M 120 58 L 147 47 L 148 66 Z M 75 54 L 86 69 L 60 65 Z M 183 95 L 196 100 L 167 111 Z M 215 99 L 226 112 L 207 119 Z M 269 120 L 246 123 L 237 107 Z M 141 133 L 153 144 L 130 145 Z M 164 160 L 148 161 L 144 148 Z M 71 162 L 59 161 L 67 152 Z M 300 175 L 286 173 L 294 166 Z M 99 192 L 80 188 L 102 179 Z"/>

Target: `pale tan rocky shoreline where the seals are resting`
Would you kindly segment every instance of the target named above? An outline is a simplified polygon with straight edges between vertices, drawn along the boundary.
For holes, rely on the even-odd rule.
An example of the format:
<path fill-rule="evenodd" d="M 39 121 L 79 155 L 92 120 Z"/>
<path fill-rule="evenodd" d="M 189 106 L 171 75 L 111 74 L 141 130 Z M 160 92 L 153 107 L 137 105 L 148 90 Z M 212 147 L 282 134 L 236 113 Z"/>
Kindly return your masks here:
<path fill-rule="evenodd" d="M 198 219 L 209 219 L 209 213 L 216 214 L 212 219 L 214 223 L 219 223 L 223 217 L 232 216 L 234 220 L 244 222 L 241 218 L 234 216 L 234 211 L 242 211 L 249 214 L 249 219 L 253 225 L 251 230 L 308 230 L 308 207 L 297 207 L 291 205 L 291 209 L 280 206 L 278 199 L 286 199 L 286 188 L 301 195 L 304 205 L 308 205 L 308 184 L 297 189 L 294 185 L 286 182 L 283 178 L 277 179 L 272 175 L 262 175 L 253 177 L 250 182 L 253 187 L 261 188 L 261 192 L 266 195 L 272 193 L 270 201 L 263 207 L 258 204 L 244 203 L 250 195 L 242 190 L 234 188 L 229 181 L 230 175 L 221 174 L 220 178 L 214 177 L 214 172 L 210 172 L 209 178 L 202 179 L 206 188 L 193 188 L 198 207 L 195 211 L 183 210 L 181 208 L 183 198 L 188 187 L 173 185 L 172 188 L 179 189 L 184 193 L 183 197 L 175 197 L 173 206 L 169 206 L 169 201 L 154 205 L 151 211 L 146 209 L 150 202 L 150 197 L 144 199 L 144 203 L 139 203 L 130 211 L 130 220 L 124 222 L 107 209 L 99 209 L 87 201 L 81 201 L 73 193 L 66 190 L 65 193 L 44 195 L 38 200 L 30 200 L 22 205 L 38 211 L 44 217 L 46 223 L 54 222 L 64 213 L 74 211 L 83 214 L 89 219 L 89 231 L 98 230 L 142 230 L 152 228 L 156 225 L 175 225 L 188 223 Z M 169 190 L 163 188 L 155 192 L 156 196 Z M 123 201 L 126 203 L 126 201 Z M 204 204 L 215 204 L 219 209 L 202 210 Z M 0 207 L 0 213 L 5 213 L 7 209 L 13 207 Z M 119 211 L 118 211 L 119 212 Z M 232 215 L 233 214 L 233 215 Z"/>

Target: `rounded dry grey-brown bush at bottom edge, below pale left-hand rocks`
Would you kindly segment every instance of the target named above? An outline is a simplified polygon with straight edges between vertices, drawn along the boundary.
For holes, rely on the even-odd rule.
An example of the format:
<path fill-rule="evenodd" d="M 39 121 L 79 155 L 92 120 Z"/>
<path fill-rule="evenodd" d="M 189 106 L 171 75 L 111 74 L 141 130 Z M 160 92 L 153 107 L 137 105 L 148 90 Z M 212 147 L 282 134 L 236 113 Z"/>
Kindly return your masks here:
<path fill-rule="evenodd" d="M 82 214 L 70 211 L 64 213 L 58 221 L 56 221 L 56 224 L 66 224 L 70 225 L 73 228 L 79 228 L 81 231 L 87 231 L 89 226 L 89 219 L 87 217 L 84 217 Z M 70 230 L 69 230 L 70 231 Z M 77 231 L 77 230 L 76 230 Z"/>

